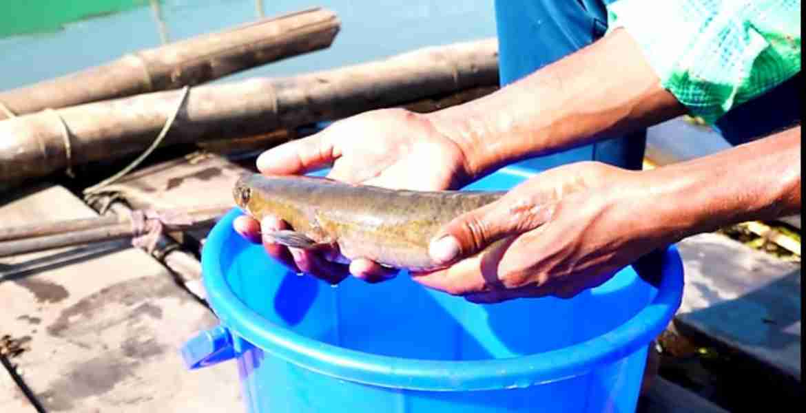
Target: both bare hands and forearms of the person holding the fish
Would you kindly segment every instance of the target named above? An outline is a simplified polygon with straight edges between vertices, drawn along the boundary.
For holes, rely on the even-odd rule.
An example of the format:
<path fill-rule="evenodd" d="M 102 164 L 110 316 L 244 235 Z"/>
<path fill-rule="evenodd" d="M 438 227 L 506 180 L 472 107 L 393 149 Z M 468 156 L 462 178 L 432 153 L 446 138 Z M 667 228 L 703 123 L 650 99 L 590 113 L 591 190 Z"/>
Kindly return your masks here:
<path fill-rule="evenodd" d="M 296 175 L 332 165 L 329 177 L 351 183 L 455 189 L 519 159 L 680 114 L 682 105 L 659 85 L 634 40 L 617 30 L 476 101 L 432 114 L 359 114 L 265 152 L 257 166 L 266 174 Z M 683 237 L 799 211 L 800 126 L 651 171 L 571 163 L 456 218 L 441 232 L 451 237 L 435 237 L 430 249 L 453 265 L 412 276 L 480 303 L 567 298 Z M 262 225 L 263 232 L 288 228 L 272 217 Z M 324 254 L 264 242 L 260 223 L 247 217 L 236 220 L 235 229 L 263 242 L 269 255 L 293 271 L 330 280 L 352 274 L 372 283 L 394 274 L 365 259 L 339 264 Z M 501 238 L 508 240 L 501 249 L 463 259 Z"/>

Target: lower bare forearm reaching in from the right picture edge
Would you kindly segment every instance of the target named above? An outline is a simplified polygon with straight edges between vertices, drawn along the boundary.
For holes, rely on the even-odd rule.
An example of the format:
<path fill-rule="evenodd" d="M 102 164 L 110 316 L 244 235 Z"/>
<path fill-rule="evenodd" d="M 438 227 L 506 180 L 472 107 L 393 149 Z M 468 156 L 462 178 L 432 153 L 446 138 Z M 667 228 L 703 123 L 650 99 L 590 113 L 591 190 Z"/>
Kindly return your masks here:
<path fill-rule="evenodd" d="M 654 231 L 675 242 L 800 212 L 800 126 L 715 155 L 638 172 Z"/>

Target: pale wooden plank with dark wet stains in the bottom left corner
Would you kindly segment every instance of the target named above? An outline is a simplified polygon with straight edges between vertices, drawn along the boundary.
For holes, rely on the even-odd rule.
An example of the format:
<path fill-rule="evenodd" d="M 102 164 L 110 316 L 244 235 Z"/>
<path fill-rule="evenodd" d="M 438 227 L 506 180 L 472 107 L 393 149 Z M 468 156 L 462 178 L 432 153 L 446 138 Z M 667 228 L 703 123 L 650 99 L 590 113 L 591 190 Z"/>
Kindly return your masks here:
<path fill-rule="evenodd" d="M 0 202 L 0 222 L 92 217 L 53 186 Z M 187 371 L 180 346 L 215 316 L 127 242 L 0 260 L 0 335 L 48 411 L 239 411 L 235 363 Z"/>

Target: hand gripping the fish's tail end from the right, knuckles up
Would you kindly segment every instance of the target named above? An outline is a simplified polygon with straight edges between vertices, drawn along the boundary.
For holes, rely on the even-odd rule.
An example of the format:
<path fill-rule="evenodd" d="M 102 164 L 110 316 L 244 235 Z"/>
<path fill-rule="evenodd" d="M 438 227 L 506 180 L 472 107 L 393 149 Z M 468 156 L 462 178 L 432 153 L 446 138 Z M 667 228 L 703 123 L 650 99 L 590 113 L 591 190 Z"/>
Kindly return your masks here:
<path fill-rule="evenodd" d="M 451 221 L 430 254 L 453 264 L 413 279 L 476 303 L 571 298 L 671 242 L 653 206 L 673 200 L 658 200 L 649 182 L 644 171 L 597 162 L 544 171 Z"/>

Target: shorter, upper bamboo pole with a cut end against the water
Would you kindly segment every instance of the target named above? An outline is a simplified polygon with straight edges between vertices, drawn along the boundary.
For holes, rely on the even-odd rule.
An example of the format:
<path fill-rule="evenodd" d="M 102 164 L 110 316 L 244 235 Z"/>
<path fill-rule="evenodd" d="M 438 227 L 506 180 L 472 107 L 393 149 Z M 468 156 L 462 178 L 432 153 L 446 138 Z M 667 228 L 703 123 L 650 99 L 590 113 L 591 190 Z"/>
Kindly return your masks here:
<path fill-rule="evenodd" d="M 0 93 L 12 114 L 198 85 L 234 72 L 330 47 L 339 19 L 321 8 L 135 52 L 94 68 Z M 0 110 L 0 120 L 9 117 Z"/>

